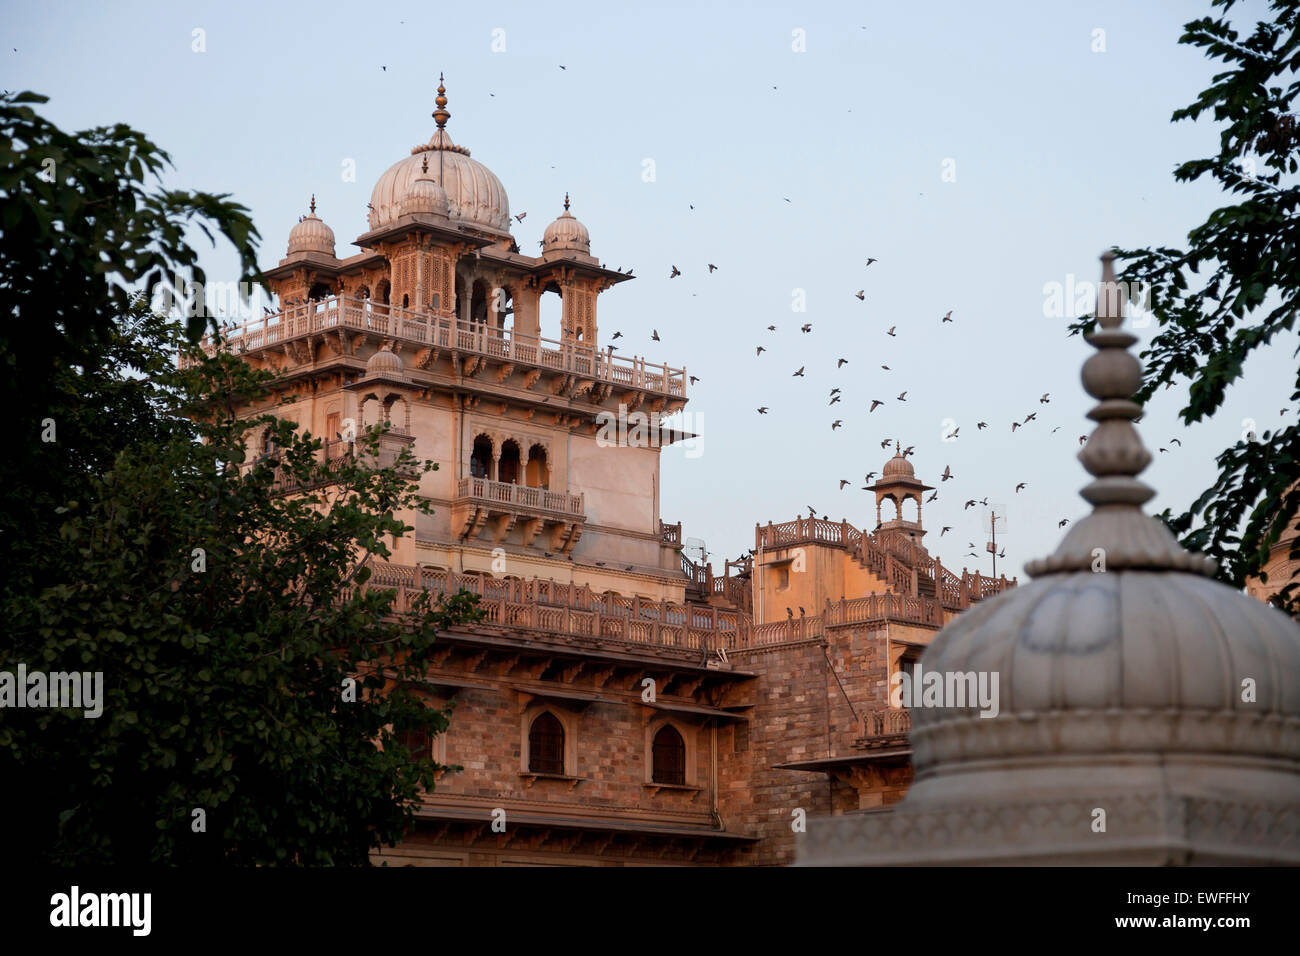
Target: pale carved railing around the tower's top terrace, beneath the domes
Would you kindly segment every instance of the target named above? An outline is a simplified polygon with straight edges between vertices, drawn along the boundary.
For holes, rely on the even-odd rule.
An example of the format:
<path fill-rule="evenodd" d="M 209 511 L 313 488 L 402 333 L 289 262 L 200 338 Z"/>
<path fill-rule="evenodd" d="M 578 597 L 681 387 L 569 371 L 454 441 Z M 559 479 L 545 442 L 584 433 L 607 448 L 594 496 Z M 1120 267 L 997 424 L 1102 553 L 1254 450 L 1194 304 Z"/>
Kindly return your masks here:
<path fill-rule="evenodd" d="M 413 312 L 344 295 L 294 303 L 274 315 L 248 320 L 228 330 L 226 347 L 235 354 L 252 352 L 332 329 L 369 330 L 413 345 L 477 352 L 515 364 L 572 372 L 670 395 L 686 394 L 685 368 L 602 352 L 586 345 L 523 336 L 486 323 L 467 323 L 459 316 Z M 204 336 L 202 347 L 209 355 L 216 352 L 216 345 L 208 336 Z"/>

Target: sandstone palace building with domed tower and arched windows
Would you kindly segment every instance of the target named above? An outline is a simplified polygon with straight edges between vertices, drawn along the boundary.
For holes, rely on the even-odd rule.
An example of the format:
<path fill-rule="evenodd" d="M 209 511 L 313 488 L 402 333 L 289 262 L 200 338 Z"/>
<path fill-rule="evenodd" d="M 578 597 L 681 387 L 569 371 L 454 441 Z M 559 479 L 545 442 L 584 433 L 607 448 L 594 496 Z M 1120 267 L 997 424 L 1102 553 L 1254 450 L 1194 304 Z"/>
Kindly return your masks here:
<path fill-rule="evenodd" d="M 381 455 L 437 462 L 417 476 L 433 514 L 404 516 L 415 531 L 374 584 L 399 606 L 481 596 L 485 618 L 451 628 L 426 675 L 430 705 L 454 704 L 448 731 L 407 741 L 463 769 L 376 858 L 790 862 L 807 817 L 902 797 L 910 719 L 890 675 L 1014 581 L 930 553 L 930 486 L 897 450 L 870 532 L 767 522 L 720 574 L 693 563 L 660 518 L 659 451 L 684 436 L 601 437 L 620 407 L 684 408 L 685 368 L 602 349 L 599 297 L 632 276 L 601 265 L 568 196 L 540 255 L 520 252 L 500 179 L 447 133 L 441 85 L 436 103 L 433 137 L 376 183 L 358 251 L 338 258 L 313 200 L 265 271 L 278 311 L 224 346 L 278 376 L 247 414 L 324 436 L 326 459 L 386 421 Z M 546 295 L 558 329 L 541 326 Z"/>

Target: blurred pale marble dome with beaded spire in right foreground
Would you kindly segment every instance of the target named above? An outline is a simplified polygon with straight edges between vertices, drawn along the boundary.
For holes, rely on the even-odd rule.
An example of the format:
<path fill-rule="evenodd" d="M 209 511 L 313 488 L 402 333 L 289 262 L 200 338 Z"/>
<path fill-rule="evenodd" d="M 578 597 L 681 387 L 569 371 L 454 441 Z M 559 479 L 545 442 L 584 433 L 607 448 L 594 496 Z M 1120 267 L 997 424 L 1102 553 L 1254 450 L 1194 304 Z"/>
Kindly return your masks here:
<path fill-rule="evenodd" d="M 1300 864 L 1300 627 L 1141 512 L 1141 365 L 1112 259 L 1083 367 L 1092 514 L 1032 584 L 939 632 L 913 788 L 889 814 L 810 821 L 801 862 Z M 989 700 L 957 693 L 972 680 Z"/>

